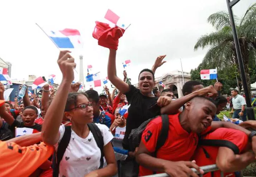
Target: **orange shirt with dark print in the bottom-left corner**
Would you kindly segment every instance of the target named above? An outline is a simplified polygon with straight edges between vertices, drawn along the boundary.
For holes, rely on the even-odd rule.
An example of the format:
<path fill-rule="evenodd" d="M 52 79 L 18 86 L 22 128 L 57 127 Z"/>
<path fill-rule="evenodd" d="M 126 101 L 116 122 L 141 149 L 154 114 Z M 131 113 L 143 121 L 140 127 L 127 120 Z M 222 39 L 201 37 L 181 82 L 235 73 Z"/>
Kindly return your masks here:
<path fill-rule="evenodd" d="M 53 154 L 53 147 L 34 144 L 20 147 L 16 143 L 0 141 L 0 177 L 29 176 Z"/>

